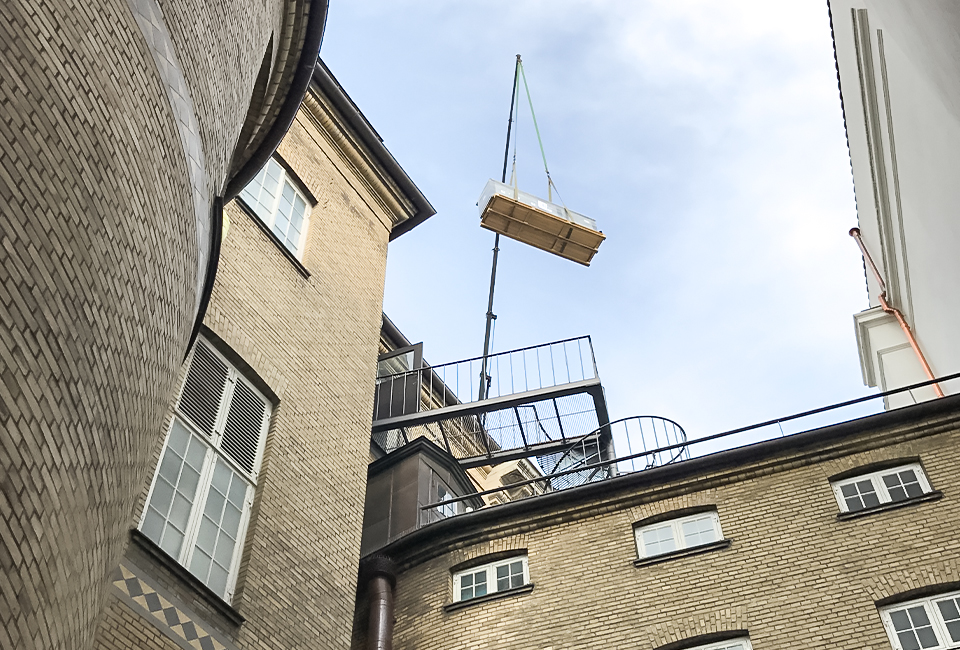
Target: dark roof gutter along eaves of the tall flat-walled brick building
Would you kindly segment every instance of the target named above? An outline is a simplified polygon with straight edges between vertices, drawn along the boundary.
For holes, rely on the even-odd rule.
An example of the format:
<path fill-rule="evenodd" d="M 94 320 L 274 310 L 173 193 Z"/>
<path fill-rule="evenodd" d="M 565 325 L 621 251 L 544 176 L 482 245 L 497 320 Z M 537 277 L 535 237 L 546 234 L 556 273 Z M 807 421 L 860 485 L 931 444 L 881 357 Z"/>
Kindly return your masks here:
<path fill-rule="evenodd" d="M 415 227 L 432 217 L 437 211 L 423 195 L 414 182 L 403 170 L 393 154 L 384 146 L 380 137 L 367 118 L 363 116 L 357 105 L 353 103 L 343 86 L 336 80 L 323 60 L 318 60 L 313 70 L 313 81 L 320 87 L 323 95 L 333 104 L 343 120 L 352 128 L 360 142 L 369 150 L 377 163 L 390 175 L 400 190 L 413 203 L 415 212 L 406 220 L 394 226 L 390 232 L 390 241 L 400 235 L 413 230 Z"/>

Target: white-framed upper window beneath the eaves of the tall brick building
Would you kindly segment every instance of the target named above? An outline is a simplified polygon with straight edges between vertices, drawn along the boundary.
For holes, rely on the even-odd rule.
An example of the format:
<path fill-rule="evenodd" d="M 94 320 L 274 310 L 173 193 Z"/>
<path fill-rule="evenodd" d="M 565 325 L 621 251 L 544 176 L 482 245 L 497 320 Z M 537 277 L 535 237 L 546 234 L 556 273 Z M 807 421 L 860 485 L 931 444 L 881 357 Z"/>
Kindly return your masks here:
<path fill-rule="evenodd" d="M 240 198 L 300 259 L 310 220 L 309 202 L 280 163 L 271 158 L 256 178 L 243 188 Z"/>

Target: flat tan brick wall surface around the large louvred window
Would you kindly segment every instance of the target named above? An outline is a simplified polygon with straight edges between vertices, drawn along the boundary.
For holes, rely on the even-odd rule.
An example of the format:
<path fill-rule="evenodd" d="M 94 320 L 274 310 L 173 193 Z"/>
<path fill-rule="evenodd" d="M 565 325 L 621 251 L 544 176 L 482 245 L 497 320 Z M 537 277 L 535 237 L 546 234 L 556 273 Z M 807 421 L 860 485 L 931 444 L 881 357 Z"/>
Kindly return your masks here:
<path fill-rule="evenodd" d="M 301 109 L 279 149 L 317 200 L 302 259 L 309 278 L 238 203 L 225 209 L 230 228 L 205 324 L 279 398 L 231 603 L 246 620 L 227 630 L 244 650 L 350 644 L 387 240 L 401 216 L 372 189 L 377 173 L 347 162 L 360 160 L 355 146 Z M 159 446 L 154 463 L 158 454 Z M 148 485 L 149 477 L 144 493 Z M 151 570 L 197 624 L 216 629 L 188 586 Z M 151 633 L 146 619 L 111 629 L 115 618 L 101 621 L 104 650 L 136 647 Z"/>

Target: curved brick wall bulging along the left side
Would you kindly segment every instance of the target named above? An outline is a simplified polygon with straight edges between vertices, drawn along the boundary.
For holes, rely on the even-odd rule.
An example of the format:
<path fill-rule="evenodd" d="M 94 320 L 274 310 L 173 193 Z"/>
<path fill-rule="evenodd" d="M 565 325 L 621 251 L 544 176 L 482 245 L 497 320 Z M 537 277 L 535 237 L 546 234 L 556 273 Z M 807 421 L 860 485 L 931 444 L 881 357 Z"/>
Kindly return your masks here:
<path fill-rule="evenodd" d="M 264 52 L 276 105 L 309 5 L 0 7 L 2 648 L 89 643 Z"/>

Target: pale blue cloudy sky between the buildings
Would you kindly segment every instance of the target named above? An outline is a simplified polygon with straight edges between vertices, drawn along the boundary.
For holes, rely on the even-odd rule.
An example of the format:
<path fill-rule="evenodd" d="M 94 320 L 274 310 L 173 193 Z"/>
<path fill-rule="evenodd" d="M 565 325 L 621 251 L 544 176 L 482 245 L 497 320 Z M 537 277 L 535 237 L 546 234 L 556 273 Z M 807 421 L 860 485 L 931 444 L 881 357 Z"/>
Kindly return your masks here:
<path fill-rule="evenodd" d="M 589 334 L 611 417 L 688 437 L 875 392 L 826 0 L 331 2 L 321 57 L 437 210 L 390 244 L 384 299 L 425 359 L 482 353 L 476 202 L 518 53 L 554 182 L 607 239 L 585 268 L 502 238 L 494 351 Z M 520 111 L 519 185 L 545 195 Z"/>

